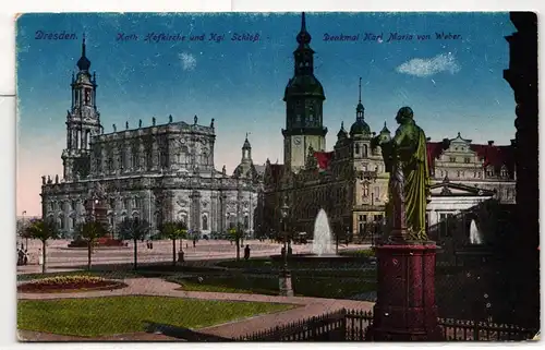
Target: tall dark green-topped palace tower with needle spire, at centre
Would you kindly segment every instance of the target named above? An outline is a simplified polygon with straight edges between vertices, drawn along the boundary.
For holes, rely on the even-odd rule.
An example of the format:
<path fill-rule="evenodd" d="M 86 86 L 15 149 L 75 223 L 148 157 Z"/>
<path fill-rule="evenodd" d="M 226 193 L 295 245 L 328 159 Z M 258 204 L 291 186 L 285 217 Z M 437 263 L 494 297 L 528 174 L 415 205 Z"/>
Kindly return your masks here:
<path fill-rule="evenodd" d="M 283 135 L 283 162 L 289 171 L 298 172 L 305 165 L 308 148 L 326 148 L 327 128 L 323 122 L 324 88 L 314 76 L 314 50 L 311 34 L 306 32 L 305 14 L 296 37 L 298 48 L 293 52 L 295 69 L 286 86 L 286 129 Z"/>

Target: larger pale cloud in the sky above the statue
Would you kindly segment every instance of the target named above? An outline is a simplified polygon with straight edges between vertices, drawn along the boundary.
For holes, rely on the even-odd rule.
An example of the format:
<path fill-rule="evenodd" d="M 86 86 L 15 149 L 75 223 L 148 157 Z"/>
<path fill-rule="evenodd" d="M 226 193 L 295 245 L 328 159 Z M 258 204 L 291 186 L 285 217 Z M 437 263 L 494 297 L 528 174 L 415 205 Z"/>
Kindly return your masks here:
<path fill-rule="evenodd" d="M 441 53 L 429 59 L 412 59 L 402 63 L 396 71 L 398 73 L 425 77 L 440 72 L 450 72 L 451 74 L 460 71 L 460 64 L 456 61 L 456 57 L 451 53 Z"/>

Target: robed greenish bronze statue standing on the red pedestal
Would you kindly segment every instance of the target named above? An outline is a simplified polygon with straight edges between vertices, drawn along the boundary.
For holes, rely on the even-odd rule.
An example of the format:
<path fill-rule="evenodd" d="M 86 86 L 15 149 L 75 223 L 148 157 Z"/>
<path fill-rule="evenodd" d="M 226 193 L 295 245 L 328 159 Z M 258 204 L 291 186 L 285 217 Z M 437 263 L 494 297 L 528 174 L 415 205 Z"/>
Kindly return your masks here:
<path fill-rule="evenodd" d="M 390 141 L 373 138 L 372 148 L 380 145 L 388 183 L 389 202 L 386 215 L 393 220 L 392 239 L 427 240 L 426 205 L 429 192 L 426 135 L 413 120 L 410 107 L 398 111 L 399 124 Z"/>

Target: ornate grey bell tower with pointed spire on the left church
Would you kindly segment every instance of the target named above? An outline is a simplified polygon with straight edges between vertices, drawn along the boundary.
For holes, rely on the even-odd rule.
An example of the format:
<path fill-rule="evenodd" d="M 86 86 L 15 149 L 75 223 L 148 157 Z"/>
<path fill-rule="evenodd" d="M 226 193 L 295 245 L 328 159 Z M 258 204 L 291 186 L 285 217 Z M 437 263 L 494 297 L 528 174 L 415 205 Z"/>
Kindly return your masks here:
<path fill-rule="evenodd" d="M 85 56 L 85 35 L 78 72 L 72 73 L 72 106 L 66 113 L 66 148 L 62 152 L 64 181 L 77 181 L 89 174 L 90 137 L 101 131 L 96 106 L 96 75 L 90 75 L 90 61 Z"/>

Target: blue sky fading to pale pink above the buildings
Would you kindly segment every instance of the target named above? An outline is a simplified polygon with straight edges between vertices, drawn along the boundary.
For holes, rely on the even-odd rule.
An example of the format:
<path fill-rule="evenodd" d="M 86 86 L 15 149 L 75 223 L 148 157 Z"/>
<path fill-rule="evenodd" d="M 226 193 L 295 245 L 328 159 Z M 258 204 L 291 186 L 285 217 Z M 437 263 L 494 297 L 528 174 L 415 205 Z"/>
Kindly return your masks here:
<path fill-rule="evenodd" d="M 408 105 L 434 140 L 457 132 L 477 143 L 508 144 L 514 137 L 514 100 L 502 80 L 509 63 L 504 37 L 514 32 L 507 13 L 307 13 L 306 23 L 316 51 L 315 75 L 326 94 L 328 148 L 341 121 L 349 128 L 355 119 L 360 76 L 373 130 L 385 121 L 393 130 L 396 111 Z M 39 213 L 40 174 L 62 172 L 70 81 L 83 33 L 106 132 L 126 120 L 136 125 L 138 119 L 149 124 L 153 117 L 167 122 L 169 114 L 185 121 L 197 114 L 201 123 L 215 118 L 216 167 L 226 164 L 232 171 L 246 132 L 255 162 L 267 157 L 282 161 L 282 95 L 293 74 L 300 26 L 300 13 L 23 15 L 16 38 L 17 176 L 32 189 L 17 194 L 17 207 Z M 75 33 L 77 39 L 36 39 L 37 31 Z M 460 38 L 436 39 L 436 32 Z M 138 39 L 120 41 L 120 33 Z M 205 34 L 205 41 L 147 43 L 149 33 Z M 225 40 L 209 41 L 211 33 Z M 259 39 L 232 41 L 234 33 L 257 33 Z M 325 34 L 363 38 L 365 33 L 382 33 L 384 40 L 324 40 Z M 414 38 L 387 43 L 390 33 Z M 432 38 L 416 38 L 424 34 Z"/>

